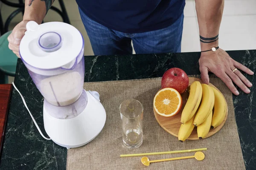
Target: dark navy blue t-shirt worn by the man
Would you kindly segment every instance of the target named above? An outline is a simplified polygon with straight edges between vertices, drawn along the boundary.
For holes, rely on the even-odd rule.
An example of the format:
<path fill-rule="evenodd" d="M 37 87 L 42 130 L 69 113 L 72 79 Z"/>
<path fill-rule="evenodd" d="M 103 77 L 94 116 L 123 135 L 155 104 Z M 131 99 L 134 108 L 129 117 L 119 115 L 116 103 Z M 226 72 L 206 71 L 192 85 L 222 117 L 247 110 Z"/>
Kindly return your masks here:
<path fill-rule="evenodd" d="M 124 33 L 166 28 L 183 13 L 185 0 L 76 0 L 87 17 Z"/>

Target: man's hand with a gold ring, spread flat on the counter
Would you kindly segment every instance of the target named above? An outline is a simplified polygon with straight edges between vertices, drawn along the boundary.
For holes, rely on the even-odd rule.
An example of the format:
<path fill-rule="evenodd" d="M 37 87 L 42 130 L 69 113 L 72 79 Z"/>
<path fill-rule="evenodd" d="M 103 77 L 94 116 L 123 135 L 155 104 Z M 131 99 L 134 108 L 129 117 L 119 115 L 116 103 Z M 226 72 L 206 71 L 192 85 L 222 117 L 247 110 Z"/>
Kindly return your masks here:
<path fill-rule="evenodd" d="M 235 68 L 244 71 L 247 74 L 253 75 L 253 71 L 245 67 L 239 62 L 232 59 L 226 51 L 218 48 L 215 52 L 207 51 L 202 52 L 199 59 L 199 66 L 201 72 L 201 78 L 204 83 L 209 83 L 208 71 L 219 77 L 227 87 L 232 91 L 233 94 L 239 95 L 233 82 L 241 88 L 245 93 L 250 93 L 247 87 L 252 87 L 252 83 L 244 77 L 239 70 L 233 72 Z"/>

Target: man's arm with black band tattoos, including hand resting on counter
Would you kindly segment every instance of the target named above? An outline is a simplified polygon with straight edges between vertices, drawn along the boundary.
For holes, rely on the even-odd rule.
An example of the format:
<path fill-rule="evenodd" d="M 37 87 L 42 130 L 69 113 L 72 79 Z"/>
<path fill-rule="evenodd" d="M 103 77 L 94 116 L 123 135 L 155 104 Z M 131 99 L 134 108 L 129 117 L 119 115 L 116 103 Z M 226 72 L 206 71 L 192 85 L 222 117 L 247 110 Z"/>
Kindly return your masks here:
<path fill-rule="evenodd" d="M 201 51 L 217 47 L 224 0 L 195 0 L 195 6 L 198 17 Z M 253 75 L 253 71 L 236 62 L 221 48 L 218 48 L 216 51 L 201 52 L 199 65 L 201 78 L 204 83 L 209 83 L 208 72 L 210 71 L 219 77 L 233 94 L 239 95 L 233 82 L 245 93 L 250 93 L 247 87 L 251 87 L 252 84 L 236 68 L 250 75 Z"/>

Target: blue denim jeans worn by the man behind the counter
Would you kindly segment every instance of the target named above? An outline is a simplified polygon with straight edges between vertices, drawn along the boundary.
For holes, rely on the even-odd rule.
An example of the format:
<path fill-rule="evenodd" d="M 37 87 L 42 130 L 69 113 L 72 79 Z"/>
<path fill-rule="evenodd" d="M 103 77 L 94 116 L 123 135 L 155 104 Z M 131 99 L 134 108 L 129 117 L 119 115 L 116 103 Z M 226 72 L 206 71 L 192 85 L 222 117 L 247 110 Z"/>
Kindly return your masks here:
<path fill-rule="evenodd" d="M 136 54 L 180 52 L 183 14 L 167 28 L 126 34 L 102 26 L 87 17 L 80 8 L 79 11 L 94 55 L 132 54 L 131 40 Z"/>

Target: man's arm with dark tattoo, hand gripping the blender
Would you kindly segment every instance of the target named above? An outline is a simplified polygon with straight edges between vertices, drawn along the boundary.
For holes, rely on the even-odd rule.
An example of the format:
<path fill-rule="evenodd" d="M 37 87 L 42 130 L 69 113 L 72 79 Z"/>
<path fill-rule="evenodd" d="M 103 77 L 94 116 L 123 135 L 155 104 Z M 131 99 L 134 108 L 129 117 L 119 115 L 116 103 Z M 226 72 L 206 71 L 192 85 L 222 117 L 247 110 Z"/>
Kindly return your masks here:
<path fill-rule="evenodd" d="M 20 40 L 25 34 L 26 23 L 29 21 L 35 21 L 41 24 L 47 11 L 51 8 L 54 0 L 26 0 L 25 11 L 23 15 L 23 21 L 17 24 L 12 30 L 12 34 L 9 35 L 9 48 L 20 57 L 19 45 Z"/>

